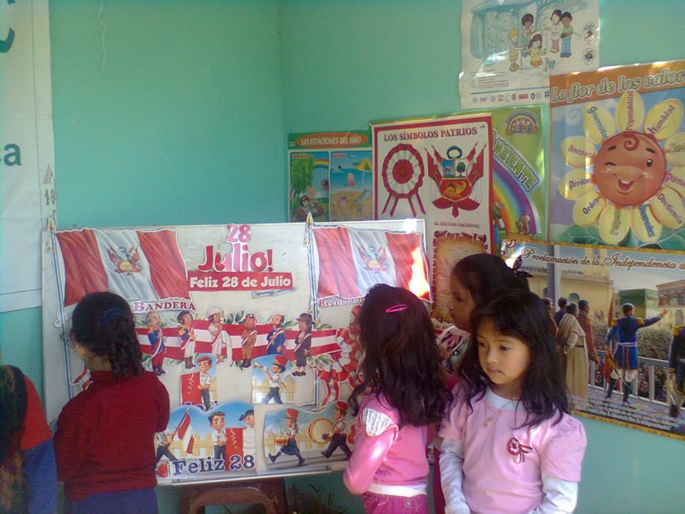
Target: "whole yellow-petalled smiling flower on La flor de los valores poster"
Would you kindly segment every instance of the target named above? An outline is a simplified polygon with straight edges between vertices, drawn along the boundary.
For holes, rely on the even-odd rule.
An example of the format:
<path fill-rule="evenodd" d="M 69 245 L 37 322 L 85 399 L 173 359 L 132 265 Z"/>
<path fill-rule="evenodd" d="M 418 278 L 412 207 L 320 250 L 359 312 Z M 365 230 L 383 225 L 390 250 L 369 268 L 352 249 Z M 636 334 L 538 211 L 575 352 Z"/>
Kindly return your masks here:
<path fill-rule="evenodd" d="M 645 115 L 641 96 L 626 91 L 614 115 L 594 103 L 582 109 L 584 136 L 564 138 L 559 148 L 572 168 L 559 183 L 559 194 L 574 201 L 574 223 L 597 224 L 609 245 L 618 245 L 630 233 L 643 243 L 655 243 L 664 226 L 684 226 L 681 101 L 666 99 Z"/>

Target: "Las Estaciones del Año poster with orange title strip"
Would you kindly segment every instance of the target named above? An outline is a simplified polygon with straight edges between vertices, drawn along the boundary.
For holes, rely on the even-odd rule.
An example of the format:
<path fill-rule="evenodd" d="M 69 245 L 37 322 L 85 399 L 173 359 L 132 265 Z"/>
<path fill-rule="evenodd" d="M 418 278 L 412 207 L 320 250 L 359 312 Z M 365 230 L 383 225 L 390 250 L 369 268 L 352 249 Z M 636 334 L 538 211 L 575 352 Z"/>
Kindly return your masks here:
<path fill-rule="evenodd" d="M 288 170 L 290 221 L 371 219 L 368 131 L 290 134 Z"/>

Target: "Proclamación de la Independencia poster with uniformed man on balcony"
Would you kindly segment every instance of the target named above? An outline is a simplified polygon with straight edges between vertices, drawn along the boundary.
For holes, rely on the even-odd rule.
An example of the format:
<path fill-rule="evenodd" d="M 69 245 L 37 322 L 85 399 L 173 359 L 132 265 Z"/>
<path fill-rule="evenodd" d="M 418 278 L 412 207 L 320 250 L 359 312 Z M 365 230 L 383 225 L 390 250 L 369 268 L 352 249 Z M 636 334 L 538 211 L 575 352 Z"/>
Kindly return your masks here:
<path fill-rule="evenodd" d="M 517 256 L 534 293 L 548 296 L 554 280 L 555 305 L 558 296 L 589 302 L 577 320 L 562 319 L 556 335 L 572 408 L 685 440 L 685 254 L 507 244 L 507 261 Z M 568 337 L 576 321 L 584 341 Z"/>

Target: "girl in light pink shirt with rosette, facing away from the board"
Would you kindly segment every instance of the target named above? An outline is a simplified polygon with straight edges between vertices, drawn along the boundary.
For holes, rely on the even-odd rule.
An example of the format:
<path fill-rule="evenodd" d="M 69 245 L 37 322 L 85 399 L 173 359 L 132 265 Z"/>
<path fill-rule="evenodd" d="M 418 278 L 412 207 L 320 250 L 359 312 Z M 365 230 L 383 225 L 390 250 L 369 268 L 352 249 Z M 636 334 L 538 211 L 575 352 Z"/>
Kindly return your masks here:
<path fill-rule="evenodd" d="M 507 291 L 472 326 L 440 428 L 445 512 L 572 513 L 587 440 L 569 415 L 542 300 Z"/>

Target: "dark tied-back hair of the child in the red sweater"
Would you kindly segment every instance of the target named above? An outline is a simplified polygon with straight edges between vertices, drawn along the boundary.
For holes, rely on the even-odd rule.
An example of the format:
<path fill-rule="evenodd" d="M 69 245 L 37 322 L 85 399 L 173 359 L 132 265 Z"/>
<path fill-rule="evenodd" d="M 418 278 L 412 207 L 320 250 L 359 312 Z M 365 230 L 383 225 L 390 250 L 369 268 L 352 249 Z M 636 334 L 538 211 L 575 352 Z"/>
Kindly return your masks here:
<path fill-rule="evenodd" d="M 116 377 L 141 376 L 141 346 L 126 300 L 114 293 L 90 293 L 71 315 L 71 337 L 93 355 L 108 358 Z"/>

